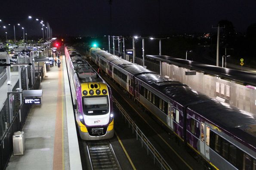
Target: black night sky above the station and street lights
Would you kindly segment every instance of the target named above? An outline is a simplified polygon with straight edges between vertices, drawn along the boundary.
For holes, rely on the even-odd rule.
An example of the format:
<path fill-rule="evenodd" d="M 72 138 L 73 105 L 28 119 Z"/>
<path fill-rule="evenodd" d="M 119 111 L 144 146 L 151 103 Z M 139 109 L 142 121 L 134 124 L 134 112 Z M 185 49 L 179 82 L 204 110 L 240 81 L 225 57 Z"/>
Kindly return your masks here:
<path fill-rule="evenodd" d="M 231 21 L 237 32 L 245 33 L 256 23 L 256 0 L 112 0 L 111 5 L 109 0 L 1 1 L 1 26 L 20 23 L 28 35 L 41 33 L 40 24 L 29 21 L 28 15 L 49 21 L 58 35 L 216 32 L 212 25 L 220 20 Z M 0 27 L 0 35 L 4 32 Z"/>

